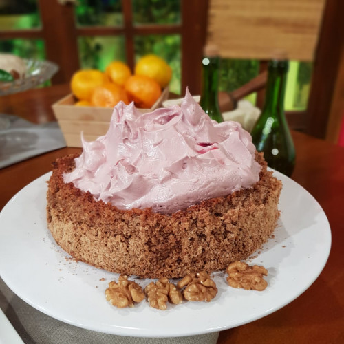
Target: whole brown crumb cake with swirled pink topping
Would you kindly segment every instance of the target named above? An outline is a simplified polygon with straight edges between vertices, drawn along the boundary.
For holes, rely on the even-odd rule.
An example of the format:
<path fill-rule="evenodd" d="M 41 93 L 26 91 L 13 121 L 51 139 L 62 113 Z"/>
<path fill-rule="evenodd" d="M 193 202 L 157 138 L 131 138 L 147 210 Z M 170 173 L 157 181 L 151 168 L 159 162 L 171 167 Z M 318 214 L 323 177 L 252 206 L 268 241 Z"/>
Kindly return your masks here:
<path fill-rule="evenodd" d="M 119 103 L 109 131 L 54 162 L 47 225 L 78 261 L 178 278 L 247 259 L 277 226 L 281 182 L 249 133 L 217 123 L 189 92 L 142 114 Z"/>

